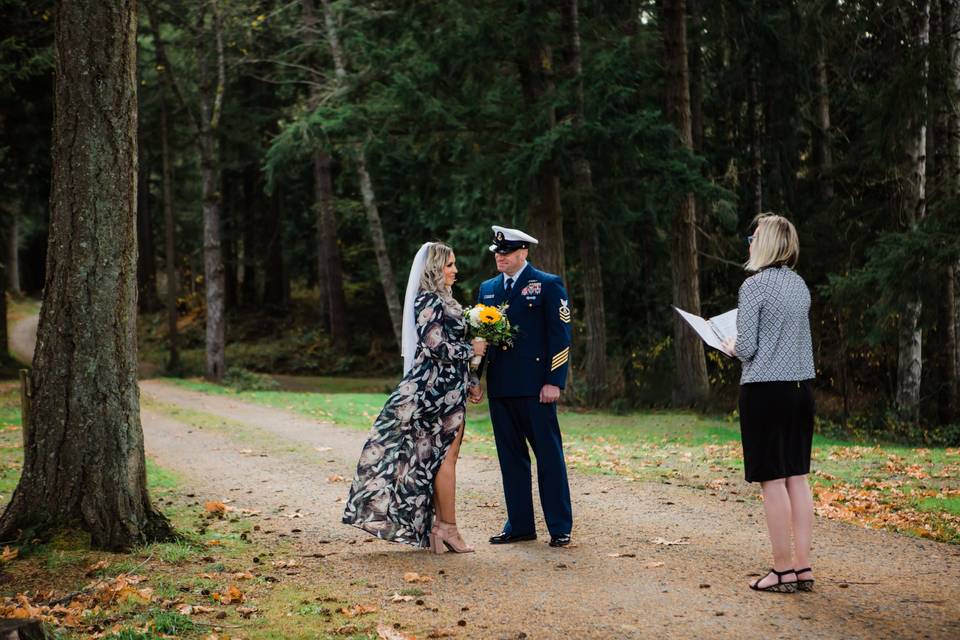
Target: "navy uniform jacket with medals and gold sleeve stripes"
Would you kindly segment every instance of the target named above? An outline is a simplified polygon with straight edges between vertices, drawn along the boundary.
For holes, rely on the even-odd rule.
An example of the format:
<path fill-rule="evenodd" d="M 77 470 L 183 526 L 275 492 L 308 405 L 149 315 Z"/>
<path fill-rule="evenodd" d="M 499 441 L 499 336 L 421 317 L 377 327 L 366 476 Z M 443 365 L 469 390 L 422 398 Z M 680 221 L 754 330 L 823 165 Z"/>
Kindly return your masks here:
<path fill-rule="evenodd" d="M 516 329 L 513 347 L 490 345 L 485 358 L 487 394 L 491 398 L 539 396 L 545 384 L 561 389 L 567 382 L 570 359 L 570 298 L 559 276 L 527 264 L 513 283 L 509 299 L 504 276 L 480 285 L 477 301 L 506 302 L 507 317 Z"/>

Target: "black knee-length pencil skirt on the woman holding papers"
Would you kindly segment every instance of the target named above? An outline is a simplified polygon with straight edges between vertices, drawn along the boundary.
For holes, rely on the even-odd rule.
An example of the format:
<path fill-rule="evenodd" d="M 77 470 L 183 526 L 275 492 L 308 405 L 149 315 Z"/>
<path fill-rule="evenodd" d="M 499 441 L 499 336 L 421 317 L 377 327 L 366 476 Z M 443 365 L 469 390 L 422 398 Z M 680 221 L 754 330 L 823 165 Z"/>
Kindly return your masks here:
<path fill-rule="evenodd" d="M 813 415 L 809 380 L 740 385 L 740 439 L 747 482 L 810 473 Z"/>

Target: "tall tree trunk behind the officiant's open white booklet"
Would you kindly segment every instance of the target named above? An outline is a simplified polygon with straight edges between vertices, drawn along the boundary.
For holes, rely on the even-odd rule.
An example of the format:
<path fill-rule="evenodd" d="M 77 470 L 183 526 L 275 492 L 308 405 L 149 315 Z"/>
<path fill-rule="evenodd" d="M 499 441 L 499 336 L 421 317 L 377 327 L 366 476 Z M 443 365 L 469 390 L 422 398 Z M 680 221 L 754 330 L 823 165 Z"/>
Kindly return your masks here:
<path fill-rule="evenodd" d="M 667 116 L 680 134 L 680 143 L 690 148 L 693 134 L 690 122 L 685 13 L 684 0 L 664 0 L 663 46 L 666 57 Z M 686 311 L 700 313 L 700 266 L 694 216 L 693 194 L 684 194 L 673 217 L 670 264 L 673 269 L 673 304 Z M 702 404 L 710 393 L 703 343 L 678 314 L 674 314 L 673 329 L 676 356 L 674 402 L 682 406 Z"/>

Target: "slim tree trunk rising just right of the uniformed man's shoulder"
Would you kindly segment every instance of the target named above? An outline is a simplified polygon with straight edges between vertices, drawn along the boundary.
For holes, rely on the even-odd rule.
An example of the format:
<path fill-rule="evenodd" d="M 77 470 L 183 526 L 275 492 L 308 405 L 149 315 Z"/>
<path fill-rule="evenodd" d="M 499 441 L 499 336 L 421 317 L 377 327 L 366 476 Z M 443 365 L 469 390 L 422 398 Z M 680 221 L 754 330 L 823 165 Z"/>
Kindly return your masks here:
<path fill-rule="evenodd" d="M 573 118 L 576 143 L 573 157 L 572 208 L 579 231 L 580 263 L 583 268 L 583 316 L 587 327 L 586 400 L 597 406 L 607 392 L 607 320 L 603 305 L 603 271 L 597 234 L 597 209 L 590 161 L 584 151 L 583 59 L 580 47 L 580 8 L 577 0 L 563 4 L 567 73 L 573 80 Z"/>

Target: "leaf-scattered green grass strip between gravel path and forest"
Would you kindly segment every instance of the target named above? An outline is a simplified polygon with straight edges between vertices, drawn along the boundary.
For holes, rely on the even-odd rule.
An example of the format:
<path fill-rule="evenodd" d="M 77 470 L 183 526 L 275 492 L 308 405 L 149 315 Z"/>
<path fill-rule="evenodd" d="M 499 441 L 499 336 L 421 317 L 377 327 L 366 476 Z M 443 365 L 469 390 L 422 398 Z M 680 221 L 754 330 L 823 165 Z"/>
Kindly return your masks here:
<path fill-rule="evenodd" d="M 367 430 L 395 382 L 386 378 L 278 378 L 283 390 L 235 391 L 168 382 Z M 561 410 L 567 461 L 587 473 L 686 484 L 755 499 L 743 482 L 739 425 L 690 412 Z M 464 453 L 496 455 L 486 402 L 468 407 Z M 811 484 L 820 515 L 960 544 L 960 449 L 905 447 L 814 436 Z"/>

